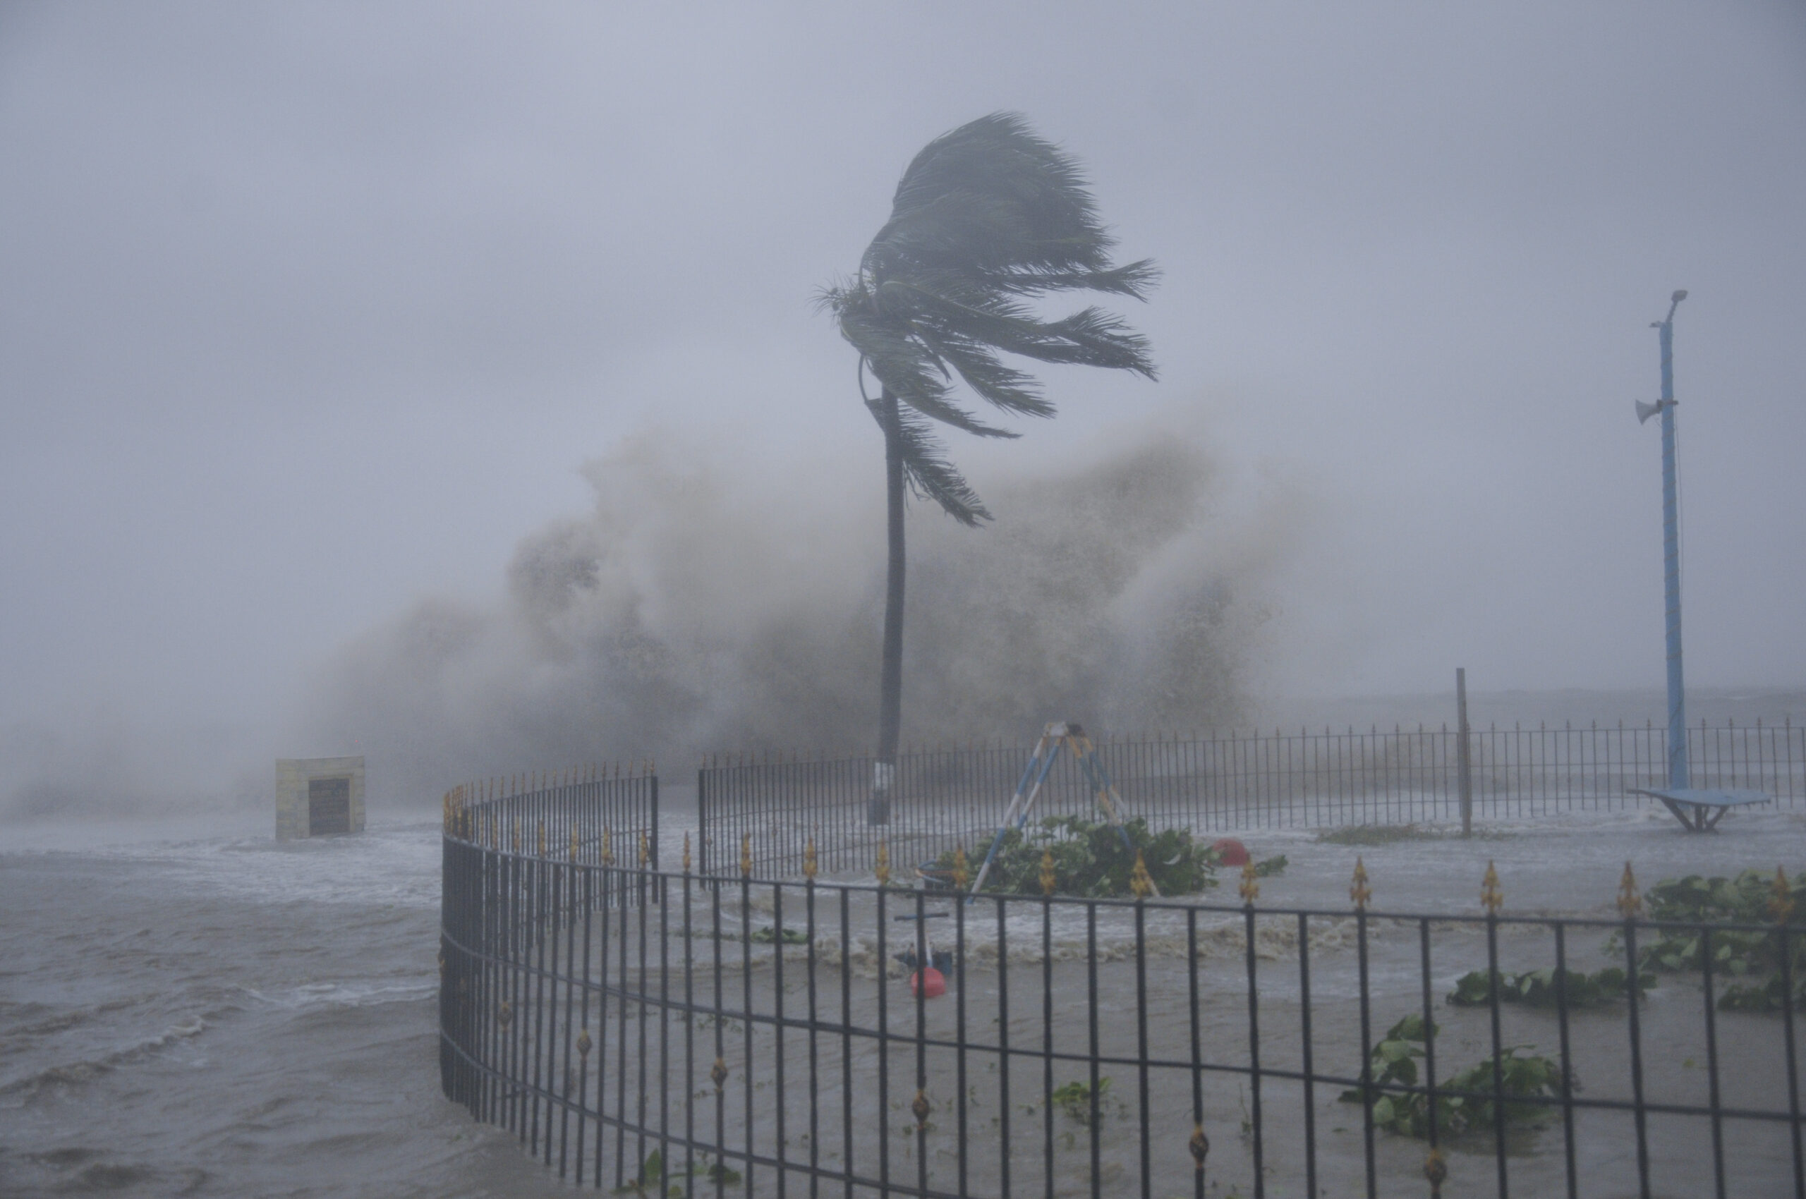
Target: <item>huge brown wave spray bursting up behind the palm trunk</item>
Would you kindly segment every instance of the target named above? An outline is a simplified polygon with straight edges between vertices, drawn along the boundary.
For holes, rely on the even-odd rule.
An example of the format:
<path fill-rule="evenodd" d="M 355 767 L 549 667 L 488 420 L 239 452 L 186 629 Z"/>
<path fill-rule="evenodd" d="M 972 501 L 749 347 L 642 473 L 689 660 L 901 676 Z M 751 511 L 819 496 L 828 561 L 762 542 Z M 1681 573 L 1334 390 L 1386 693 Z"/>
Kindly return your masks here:
<path fill-rule="evenodd" d="M 1022 457 L 984 488 L 991 525 L 910 506 L 903 740 L 1235 722 L 1300 506 L 1226 516 L 1183 428 L 1076 464 Z M 585 468 L 589 515 L 520 542 L 500 603 L 426 600 L 349 646 L 316 692 L 316 735 L 421 795 L 574 762 L 867 749 L 880 477 L 748 479 L 759 466 L 628 439 Z"/>

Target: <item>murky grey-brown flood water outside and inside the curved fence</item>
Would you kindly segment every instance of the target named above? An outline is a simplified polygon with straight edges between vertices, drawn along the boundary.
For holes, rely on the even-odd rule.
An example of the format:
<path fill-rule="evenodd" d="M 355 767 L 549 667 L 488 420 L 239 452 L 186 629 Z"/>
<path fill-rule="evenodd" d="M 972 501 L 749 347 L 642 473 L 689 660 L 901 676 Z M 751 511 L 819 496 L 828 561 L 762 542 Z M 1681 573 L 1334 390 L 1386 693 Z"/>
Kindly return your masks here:
<path fill-rule="evenodd" d="M 284 845 L 269 838 L 262 820 L 228 827 L 215 822 L 211 827 L 9 831 L 0 852 L 0 912 L 5 914 L 0 925 L 0 1195 L 571 1194 L 569 1185 L 529 1161 L 509 1134 L 471 1121 L 461 1107 L 441 1098 L 433 961 L 439 825 L 437 820 L 372 823 L 361 836 Z M 661 856 L 674 863 L 681 814 L 666 813 L 663 829 Z M 1802 834 L 1806 816 L 1768 811 L 1727 818 L 1718 834 L 1690 836 L 1658 809 L 1488 827 L 1486 836 L 1472 841 L 1418 840 L 1358 850 L 1318 843 L 1308 832 L 1250 832 L 1246 840 L 1257 856 L 1284 852 L 1291 860 L 1284 874 L 1262 881 L 1262 908 L 1347 910 L 1349 872 L 1354 856 L 1362 854 L 1374 906 L 1383 910 L 1479 912 L 1481 876 L 1486 861 L 1495 860 L 1508 914 L 1611 916 L 1627 858 L 1645 885 L 1665 876 L 1730 874 L 1745 867 L 1772 872 L 1786 865 L 1793 872 L 1806 867 Z M 1233 879 L 1214 897 L 1228 899 L 1223 892 L 1232 894 L 1232 887 Z M 766 917 L 755 912 L 753 919 Z M 789 919 L 787 914 L 786 923 Z M 1271 1062 L 1288 1065 L 1299 1044 L 1295 952 L 1284 941 L 1286 917 L 1262 919 L 1275 926 L 1261 964 L 1262 1047 Z M 982 919 L 973 921 L 977 941 L 993 935 L 981 925 Z M 1087 935 L 1071 928 L 1057 934 L 1062 941 Z M 1031 939 L 1026 930 L 1022 939 L 1015 930 L 1010 935 L 1013 950 L 1015 943 L 1026 946 Z M 1103 935 L 1123 934 L 1105 928 Z M 1438 935 L 1438 990 L 1485 964 L 1483 941 L 1481 957 L 1472 961 L 1472 934 Z M 1468 937 L 1466 950 L 1459 948 L 1459 937 Z M 1546 962 L 1537 961 L 1546 948 L 1535 934 L 1513 934 L 1506 941 L 1506 968 Z M 1313 943 L 1320 1071 L 1358 1069 L 1358 1051 L 1344 1051 L 1349 1060 L 1326 1058 L 1326 1046 L 1333 1042 L 1358 1044 L 1349 1040 L 1358 1036 L 1351 944 L 1333 923 L 1326 923 L 1324 937 Z M 1373 1022 L 1380 1031 L 1416 997 L 1416 932 L 1382 926 L 1373 946 L 1378 995 Z M 1235 1046 L 1235 1036 L 1246 1036 L 1244 1006 L 1235 1006 L 1244 975 L 1232 950 L 1226 943 L 1223 953 L 1201 961 L 1205 988 L 1217 995 L 1205 1026 L 1217 1042 L 1217 1056 L 1244 1051 Z M 1580 957 L 1597 950 L 1595 939 L 1575 946 Z M 977 944 L 972 962 L 968 1015 L 990 1011 L 997 1000 L 995 970 L 977 968 L 982 962 Z M 787 968 L 795 995 L 804 975 L 789 962 Z M 824 970 L 824 982 L 838 986 L 838 979 L 831 979 L 834 971 Z M 1188 1036 L 1185 970 L 1183 955 L 1156 959 L 1156 977 L 1149 984 L 1154 1036 L 1176 1040 L 1181 1051 Z M 914 1022 L 914 1006 L 899 979 L 880 984 L 876 968 L 861 971 L 858 962 L 854 971 L 861 995 L 874 997 L 874 988 L 890 986 L 899 1009 L 894 1020 Z M 1042 1036 L 1035 1009 L 1038 973 L 1029 955 L 1010 981 L 1011 1036 L 1022 1042 Z M 759 966 L 753 975 L 764 979 Z M 769 981 L 759 986 L 769 988 Z M 1071 1024 L 1073 1035 L 1084 1031 L 1091 986 L 1082 964 L 1058 964 L 1055 991 L 1064 1013 L 1058 1022 L 1062 1027 Z M 1105 1051 L 1122 1049 L 1125 1036 L 1132 1047 L 1132 970 L 1103 970 L 1096 986 Z M 925 1018 L 936 1027 L 957 1018 L 957 999 L 936 1000 Z M 1705 1098 L 1699 999 L 1696 984 L 1665 982 L 1649 1000 L 1649 1033 L 1671 1047 L 1652 1060 L 1651 1087 L 1683 1101 Z M 1553 1053 L 1553 1044 L 1544 1044 L 1551 1036 L 1550 1020 L 1530 1013 L 1510 1018 L 1506 1044 L 1531 1042 L 1541 1053 Z M 1447 1026 L 1448 1038 L 1441 1051 L 1447 1064 L 1439 1064 L 1438 1073 L 1447 1074 L 1485 1053 L 1490 1031 L 1483 1011 L 1439 1008 L 1438 1020 Z M 1606 1044 L 1615 1027 L 1604 1017 L 1577 1017 L 1577 1073 L 1589 1092 L 1616 1092 L 1622 1085 L 1618 1058 Z M 1781 1085 L 1775 1027 L 1777 1017 L 1727 1015 L 1718 1029 L 1727 1085 L 1764 1105 L 1784 1101 L 1775 1094 Z M 977 1087 L 968 1098 L 993 1103 L 999 1092 L 995 1082 L 986 1082 L 991 1078 L 986 1062 L 968 1058 L 968 1085 Z M 827 1074 L 840 1071 L 833 1056 L 820 1058 L 818 1065 Z M 854 1067 L 860 1083 L 870 1087 L 869 1071 Z M 914 1060 L 894 1056 L 887 1069 L 896 1080 L 890 1098 L 907 1107 Z M 945 1103 L 957 1085 L 957 1062 L 943 1055 L 928 1069 L 930 1089 Z M 697 1076 L 703 1073 L 706 1064 Z M 1112 1103 L 1138 1101 L 1132 1071 L 1103 1067 L 1103 1074 L 1112 1076 Z M 782 1107 L 791 1112 L 791 1129 L 807 1127 L 795 1123 L 807 1120 L 809 1109 L 800 1078 L 791 1073 L 784 1089 Z M 1055 1078 L 1057 1085 L 1066 1082 L 1071 1082 L 1066 1073 Z M 1024 1083 L 1038 1085 L 1038 1074 L 1019 1074 L 1015 1085 Z M 1235 1078 L 1212 1082 L 1206 1101 L 1214 1127 L 1212 1165 L 1221 1166 L 1224 1179 L 1217 1194 L 1228 1194 L 1233 1179 L 1246 1177 L 1250 1168 L 1252 1143 L 1239 1134 L 1241 1111 L 1250 1100 Z M 1358 1161 L 1360 1109 L 1335 1103 L 1333 1094 L 1320 1092 L 1317 1100 L 1320 1154 L 1331 1163 L 1326 1168 L 1342 1170 Z M 1188 1159 L 1178 1154 L 1190 1134 L 1188 1071 L 1158 1073 L 1150 1101 L 1150 1111 L 1163 1112 L 1154 1134 L 1178 1163 L 1178 1174 L 1163 1168 L 1161 1177 L 1185 1183 Z M 1293 1150 L 1302 1125 L 1300 1098 L 1295 1089 L 1284 1094 L 1270 1085 L 1264 1101 L 1271 1129 L 1266 1165 L 1273 1190 L 1268 1194 L 1299 1194 L 1300 1165 Z M 769 1103 L 766 1107 L 769 1111 Z M 943 1109 L 934 1116 L 941 1139 L 930 1152 L 936 1154 L 936 1185 L 952 1188 L 950 1114 L 952 1109 Z M 968 1107 L 966 1114 L 973 1136 L 991 1136 L 995 1143 L 990 1120 L 997 1111 Z M 1017 1134 L 1024 1156 L 1040 1154 L 1035 1138 L 1042 1120 L 1044 1112 L 1022 1112 Z M 1069 1141 L 1069 1152 L 1082 1156 L 1071 1165 L 1089 1166 L 1091 1125 L 1064 1112 L 1058 1120 L 1057 1136 Z M 905 1112 L 898 1123 L 908 1121 Z M 1134 1185 L 1140 1148 L 1136 1138 L 1120 1132 L 1132 1125 L 1111 1107 L 1098 1127 L 1100 1161 L 1112 1179 L 1105 1194 Z M 1685 1130 L 1652 1125 L 1656 1194 L 1710 1194 L 1708 1181 L 1701 1190 L 1701 1181 L 1708 1179 L 1699 1174 L 1701 1127 L 1703 1121 L 1690 1121 Z M 1732 1129 L 1728 1150 L 1741 1163 L 1737 1172 L 1757 1179 L 1755 1190 L 1741 1194 L 1770 1194 L 1763 1188 L 1772 1183 L 1773 1194 L 1781 1194 L 1777 1179 L 1790 1170 L 1781 1141 L 1727 1127 Z M 905 1143 L 898 1150 L 898 1170 L 914 1172 L 907 1156 L 912 1138 L 898 1139 Z M 1580 1143 L 1589 1177 L 1622 1177 L 1618 1186 L 1589 1186 L 1584 1194 L 1636 1192 L 1627 1120 L 1587 1116 Z M 1398 1194 L 1421 1194 L 1421 1179 L 1414 1174 L 1421 1145 L 1380 1134 L 1380 1152 L 1387 1172 L 1401 1179 Z M 1450 1194 L 1492 1194 L 1490 1147 L 1456 1148 L 1452 1168 L 1465 1183 Z M 1559 1129 L 1513 1143 L 1512 1168 L 1513 1179 L 1524 1179 L 1513 1194 L 1553 1194 L 1548 1186 L 1559 1186 L 1562 1168 Z M 1076 1176 L 1069 1176 L 1064 1157 L 1058 1170 L 1066 1192 Z M 981 1168 L 970 1185 L 977 1188 L 984 1172 Z M 1246 1181 L 1241 1186 L 1246 1194 Z M 1329 1194 L 1340 1192 L 1331 1188 Z M 1391 1192 L 1382 1188 L 1382 1194 Z"/>

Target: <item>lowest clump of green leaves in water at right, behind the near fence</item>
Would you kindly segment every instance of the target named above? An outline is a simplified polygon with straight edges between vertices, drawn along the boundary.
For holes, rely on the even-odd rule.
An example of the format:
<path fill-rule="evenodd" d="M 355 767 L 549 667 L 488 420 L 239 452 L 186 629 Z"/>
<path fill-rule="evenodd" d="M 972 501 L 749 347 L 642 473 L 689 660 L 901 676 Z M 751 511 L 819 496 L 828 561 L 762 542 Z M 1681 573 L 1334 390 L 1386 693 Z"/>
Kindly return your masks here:
<path fill-rule="evenodd" d="M 1430 1024 L 1434 1036 L 1438 1026 Z M 1423 1017 L 1410 1015 L 1387 1029 L 1378 1046 L 1373 1047 L 1373 1091 L 1383 1085 L 1418 1087 L 1418 1058 L 1425 1056 Z M 1544 1114 L 1546 1105 L 1533 1100 L 1560 1094 L 1562 1067 L 1551 1058 L 1528 1053 L 1535 1046 L 1508 1046 L 1499 1051 L 1497 1080 L 1504 1096 L 1504 1118 L 1510 1121 L 1530 1121 Z M 1492 1127 L 1494 1109 L 1494 1058 L 1456 1071 L 1439 1091 L 1468 1094 L 1436 1096 L 1438 1130 L 1457 1136 L 1468 1129 Z M 1365 1094 L 1362 1087 L 1344 1091 L 1338 1096 L 1344 1103 L 1360 1103 Z M 1416 1094 L 1378 1094 L 1373 1101 L 1373 1123 L 1400 1136 L 1427 1138 L 1430 1134 L 1430 1096 Z"/>

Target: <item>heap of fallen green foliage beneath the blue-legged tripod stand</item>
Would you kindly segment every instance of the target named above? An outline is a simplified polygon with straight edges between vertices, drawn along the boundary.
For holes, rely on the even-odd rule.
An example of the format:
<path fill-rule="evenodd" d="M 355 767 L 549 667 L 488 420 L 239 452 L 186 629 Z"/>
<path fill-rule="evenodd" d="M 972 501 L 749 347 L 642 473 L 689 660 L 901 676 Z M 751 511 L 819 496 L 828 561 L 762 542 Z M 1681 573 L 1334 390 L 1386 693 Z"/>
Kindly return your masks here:
<path fill-rule="evenodd" d="M 990 840 L 984 840 L 966 854 L 973 876 L 990 849 Z M 1194 840 L 1190 829 L 1152 832 L 1140 816 L 1122 825 L 1084 816 L 1047 816 L 1022 829 L 1004 831 L 984 888 L 1038 896 L 1042 865 L 1051 858 L 1053 894 L 1091 899 L 1127 897 L 1134 894 L 1129 879 L 1138 850 L 1161 896 L 1194 896 L 1215 887 L 1215 854 Z M 934 863 L 934 872 L 943 878 L 954 869 L 952 852 L 941 854 Z"/>

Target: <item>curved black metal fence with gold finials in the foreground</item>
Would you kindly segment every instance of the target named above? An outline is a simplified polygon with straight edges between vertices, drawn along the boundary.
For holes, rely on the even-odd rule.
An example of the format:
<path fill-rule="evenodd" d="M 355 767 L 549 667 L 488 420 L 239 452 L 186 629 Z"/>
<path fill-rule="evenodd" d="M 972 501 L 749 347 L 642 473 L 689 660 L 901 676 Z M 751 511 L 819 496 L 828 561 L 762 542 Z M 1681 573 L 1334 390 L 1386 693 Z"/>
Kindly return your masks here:
<path fill-rule="evenodd" d="M 1252 872 L 1241 906 L 968 905 L 480 827 L 448 813 L 444 1091 L 583 1186 L 1806 1197 L 1786 906 L 1652 923 L 1627 878 L 1622 921 L 1515 917 L 1490 872 L 1485 914 L 1373 912 L 1364 876 L 1261 908 Z M 1745 1009 L 1764 952 L 1784 999 Z"/>

